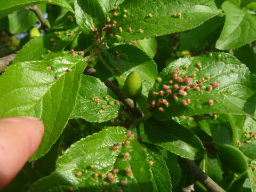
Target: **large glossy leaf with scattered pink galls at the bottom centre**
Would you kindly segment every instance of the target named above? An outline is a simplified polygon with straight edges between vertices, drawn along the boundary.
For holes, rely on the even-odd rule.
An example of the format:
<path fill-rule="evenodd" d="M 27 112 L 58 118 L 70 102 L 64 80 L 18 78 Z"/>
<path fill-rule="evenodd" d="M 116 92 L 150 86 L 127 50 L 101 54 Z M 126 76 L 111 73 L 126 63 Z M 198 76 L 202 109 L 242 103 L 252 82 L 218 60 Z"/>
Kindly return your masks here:
<path fill-rule="evenodd" d="M 124 127 L 108 127 L 74 143 L 57 161 L 57 169 L 31 186 L 30 191 L 153 191 L 153 174 L 139 142 L 127 138 Z M 129 146 L 124 142 L 130 141 Z M 123 145 L 117 146 L 122 142 Z M 117 146 L 117 150 L 113 147 Z M 124 154 L 129 153 L 129 158 Z M 130 168 L 132 173 L 126 174 Z M 109 174 L 113 169 L 118 173 Z M 94 178 L 94 174 L 99 174 Z M 106 178 L 101 174 L 106 174 Z M 114 176 L 114 178 L 111 178 Z M 110 182 L 112 180 L 112 182 Z M 122 186 L 121 181 L 126 185 Z"/>

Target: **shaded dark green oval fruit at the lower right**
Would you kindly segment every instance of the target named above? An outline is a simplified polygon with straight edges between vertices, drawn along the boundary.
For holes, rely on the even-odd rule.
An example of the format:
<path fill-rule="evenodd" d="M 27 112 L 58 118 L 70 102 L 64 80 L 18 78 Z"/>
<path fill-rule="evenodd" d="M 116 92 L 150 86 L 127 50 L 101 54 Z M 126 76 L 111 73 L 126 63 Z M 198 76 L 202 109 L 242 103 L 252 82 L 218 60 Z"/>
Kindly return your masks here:
<path fill-rule="evenodd" d="M 245 155 L 241 150 L 231 145 L 222 145 L 219 148 L 219 158 L 222 165 L 235 173 L 244 173 L 248 164 Z"/>

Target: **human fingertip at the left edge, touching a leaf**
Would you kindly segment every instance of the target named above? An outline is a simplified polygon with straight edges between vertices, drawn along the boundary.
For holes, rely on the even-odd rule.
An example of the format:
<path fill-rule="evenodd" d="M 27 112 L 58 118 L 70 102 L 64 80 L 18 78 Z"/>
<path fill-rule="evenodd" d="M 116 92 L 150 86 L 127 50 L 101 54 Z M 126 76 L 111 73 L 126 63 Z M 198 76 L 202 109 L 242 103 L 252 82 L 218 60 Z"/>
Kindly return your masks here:
<path fill-rule="evenodd" d="M 43 134 L 44 125 L 36 117 L 0 119 L 0 190 L 36 152 Z"/>

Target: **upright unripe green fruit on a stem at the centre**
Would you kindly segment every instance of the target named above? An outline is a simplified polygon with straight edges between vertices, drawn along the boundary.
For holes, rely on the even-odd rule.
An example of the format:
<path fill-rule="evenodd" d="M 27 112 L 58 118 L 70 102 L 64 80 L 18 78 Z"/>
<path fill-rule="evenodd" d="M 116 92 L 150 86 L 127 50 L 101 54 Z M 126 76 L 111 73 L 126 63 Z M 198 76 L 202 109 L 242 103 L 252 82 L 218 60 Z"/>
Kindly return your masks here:
<path fill-rule="evenodd" d="M 126 78 L 124 92 L 131 99 L 137 99 L 142 91 L 142 79 L 136 71 L 132 71 Z"/>

